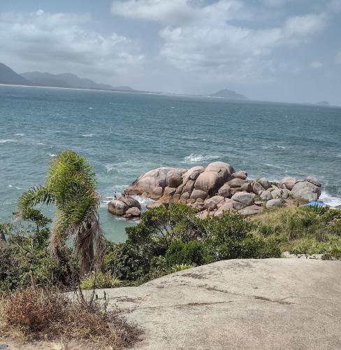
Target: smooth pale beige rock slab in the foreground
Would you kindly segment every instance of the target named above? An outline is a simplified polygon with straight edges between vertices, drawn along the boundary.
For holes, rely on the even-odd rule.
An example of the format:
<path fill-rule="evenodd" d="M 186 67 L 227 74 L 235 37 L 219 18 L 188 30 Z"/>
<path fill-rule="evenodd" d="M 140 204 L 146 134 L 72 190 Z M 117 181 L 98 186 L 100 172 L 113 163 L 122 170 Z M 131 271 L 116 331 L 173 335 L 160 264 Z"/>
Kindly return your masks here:
<path fill-rule="evenodd" d="M 106 295 L 136 349 L 341 349 L 340 261 L 225 260 Z"/>

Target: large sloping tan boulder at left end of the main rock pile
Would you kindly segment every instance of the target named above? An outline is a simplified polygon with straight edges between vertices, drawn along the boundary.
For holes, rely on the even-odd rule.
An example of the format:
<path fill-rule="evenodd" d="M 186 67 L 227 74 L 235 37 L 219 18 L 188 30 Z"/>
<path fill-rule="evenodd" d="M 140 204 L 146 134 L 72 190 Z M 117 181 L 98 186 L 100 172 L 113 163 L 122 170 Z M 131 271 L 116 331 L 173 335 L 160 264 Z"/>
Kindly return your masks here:
<path fill-rule="evenodd" d="M 152 169 L 131 183 L 126 189 L 126 193 L 128 195 L 142 195 L 143 193 L 152 193 L 154 188 L 165 188 L 169 172 L 171 172 L 170 174 L 177 174 L 179 169 L 166 167 Z"/>

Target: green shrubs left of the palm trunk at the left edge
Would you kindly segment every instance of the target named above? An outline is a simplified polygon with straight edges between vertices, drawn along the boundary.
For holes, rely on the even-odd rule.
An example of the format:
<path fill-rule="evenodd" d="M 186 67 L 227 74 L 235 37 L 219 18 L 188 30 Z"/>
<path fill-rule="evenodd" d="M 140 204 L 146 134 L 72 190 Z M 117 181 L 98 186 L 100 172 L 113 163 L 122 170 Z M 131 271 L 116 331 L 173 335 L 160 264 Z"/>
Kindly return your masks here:
<path fill-rule="evenodd" d="M 27 215 L 33 225 L 7 225 L 6 241 L 0 243 L 0 294 L 32 285 L 71 286 L 78 273 L 71 249 L 60 250 L 59 262 L 53 259 L 48 248 L 50 220 L 36 209 Z"/>

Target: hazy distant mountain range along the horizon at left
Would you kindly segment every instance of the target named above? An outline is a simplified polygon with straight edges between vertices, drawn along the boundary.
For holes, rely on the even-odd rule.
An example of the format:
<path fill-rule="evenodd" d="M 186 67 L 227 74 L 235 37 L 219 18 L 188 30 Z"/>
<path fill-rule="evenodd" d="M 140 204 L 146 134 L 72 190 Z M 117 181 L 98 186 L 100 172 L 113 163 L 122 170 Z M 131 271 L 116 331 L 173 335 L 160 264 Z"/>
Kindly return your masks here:
<path fill-rule="evenodd" d="M 46 86 L 46 87 L 69 87 L 78 89 L 95 90 L 119 90 L 135 91 L 129 86 L 117 86 L 95 83 L 91 79 L 78 78 L 75 74 L 62 73 L 41 73 L 40 71 L 31 71 L 22 74 L 15 73 L 6 64 L 0 63 L 0 84 L 9 85 L 28 85 L 28 86 Z"/>

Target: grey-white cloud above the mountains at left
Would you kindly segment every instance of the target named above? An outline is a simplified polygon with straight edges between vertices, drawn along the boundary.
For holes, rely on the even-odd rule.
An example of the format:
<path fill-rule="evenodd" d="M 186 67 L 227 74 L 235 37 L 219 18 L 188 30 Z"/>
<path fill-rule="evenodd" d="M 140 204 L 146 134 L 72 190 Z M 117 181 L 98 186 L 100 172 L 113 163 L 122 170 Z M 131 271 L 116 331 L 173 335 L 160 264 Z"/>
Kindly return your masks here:
<path fill-rule="evenodd" d="M 88 15 L 0 13 L 0 57 L 27 67 L 87 73 L 124 71 L 143 61 L 138 45 L 119 34 L 88 29 Z"/>

